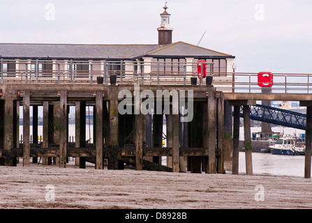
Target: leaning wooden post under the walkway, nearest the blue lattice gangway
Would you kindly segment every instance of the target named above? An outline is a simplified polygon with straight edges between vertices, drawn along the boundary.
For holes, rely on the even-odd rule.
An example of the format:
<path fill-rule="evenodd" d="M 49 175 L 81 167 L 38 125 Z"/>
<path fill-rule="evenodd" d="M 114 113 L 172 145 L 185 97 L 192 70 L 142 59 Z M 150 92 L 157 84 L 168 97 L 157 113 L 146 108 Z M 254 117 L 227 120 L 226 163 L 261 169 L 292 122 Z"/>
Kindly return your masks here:
<path fill-rule="evenodd" d="M 245 159 L 246 159 L 246 174 L 253 175 L 253 157 L 251 152 L 251 118 L 250 107 L 244 105 L 244 137 L 245 137 Z"/>

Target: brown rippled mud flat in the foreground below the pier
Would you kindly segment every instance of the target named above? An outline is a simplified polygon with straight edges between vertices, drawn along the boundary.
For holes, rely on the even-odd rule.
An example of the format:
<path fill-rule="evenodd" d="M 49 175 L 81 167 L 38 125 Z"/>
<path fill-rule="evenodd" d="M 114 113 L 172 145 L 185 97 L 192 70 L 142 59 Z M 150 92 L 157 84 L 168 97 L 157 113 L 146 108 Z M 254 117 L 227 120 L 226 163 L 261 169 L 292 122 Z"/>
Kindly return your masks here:
<path fill-rule="evenodd" d="M 0 167 L 0 208 L 312 208 L 311 186 L 311 179 L 288 176 L 60 169 L 32 164 Z M 54 188 L 54 197 L 46 187 Z"/>

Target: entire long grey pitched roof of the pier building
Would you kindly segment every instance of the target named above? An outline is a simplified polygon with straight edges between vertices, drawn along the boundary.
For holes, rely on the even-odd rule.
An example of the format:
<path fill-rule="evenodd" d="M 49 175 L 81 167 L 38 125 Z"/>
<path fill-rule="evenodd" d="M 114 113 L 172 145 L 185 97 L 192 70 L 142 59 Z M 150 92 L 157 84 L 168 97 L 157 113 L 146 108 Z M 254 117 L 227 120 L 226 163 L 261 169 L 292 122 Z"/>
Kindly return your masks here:
<path fill-rule="evenodd" d="M 10 59 L 135 59 L 142 56 L 231 55 L 184 42 L 165 46 L 0 43 L 0 57 Z"/>

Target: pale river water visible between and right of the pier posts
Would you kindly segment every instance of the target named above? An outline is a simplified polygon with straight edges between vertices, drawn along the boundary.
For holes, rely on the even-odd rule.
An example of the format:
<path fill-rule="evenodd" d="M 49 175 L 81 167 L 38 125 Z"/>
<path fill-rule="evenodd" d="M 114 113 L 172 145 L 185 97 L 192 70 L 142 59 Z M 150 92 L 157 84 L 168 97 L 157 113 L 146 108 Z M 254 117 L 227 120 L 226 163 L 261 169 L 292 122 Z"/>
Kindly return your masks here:
<path fill-rule="evenodd" d="M 32 129 L 32 126 L 31 126 Z M 165 130 L 165 128 L 164 128 Z M 260 132 L 261 128 L 251 128 L 252 132 Z M 273 132 L 284 134 L 301 134 L 304 130 L 294 128 L 272 128 Z M 89 134 L 90 133 L 90 134 Z M 244 128 L 240 128 L 240 140 L 244 140 Z M 22 126 L 20 126 L 22 134 Z M 38 126 L 38 135 L 42 135 L 42 126 Z M 87 125 L 86 139 L 91 135 L 93 142 L 93 125 Z M 75 138 L 75 125 L 69 125 L 69 136 Z M 165 163 L 165 162 L 164 162 Z M 226 171 L 230 174 L 231 171 Z M 239 174 L 246 174 L 245 153 L 239 152 Z M 272 155 L 271 153 L 253 153 L 253 174 L 269 174 L 277 176 L 304 176 L 304 155 Z"/>

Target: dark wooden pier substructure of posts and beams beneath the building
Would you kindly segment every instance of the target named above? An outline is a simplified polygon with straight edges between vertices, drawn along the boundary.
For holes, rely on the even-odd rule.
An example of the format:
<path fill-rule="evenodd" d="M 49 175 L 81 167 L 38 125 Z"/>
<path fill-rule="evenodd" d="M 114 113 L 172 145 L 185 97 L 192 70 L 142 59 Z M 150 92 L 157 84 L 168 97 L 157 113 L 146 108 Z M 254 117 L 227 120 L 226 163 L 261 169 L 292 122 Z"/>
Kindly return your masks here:
<path fill-rule="evenodd" d="M 169 92 L 161 98 L 161 114 L 143 114 L 142 102 L 151 100 L 144 91 Z M 179 92 L 193 92 L 184 109 L 193 108 L 193 120 L 181 122 Z M 132 114 L 120 114 L 119 105 L 125 100 L 123 92 L 130 92 L 126 106 Z M 177 92 L 174 94 L 172 92 Z M 108 84 L 0 84 L 0 164 L 15 166 L 17 157 L 23 165 L 30 157 L 43 157 L 43 164 L 66 167 L 68 157 L 76 157 L 80 168 L 87 160 L 96 169 L 124 169 L 131 164 L 135 169 L 192 173 L 224 173 L 223 168 L 223 113 L 224 96 L 212 86 L 194 85 L 134 85 Z M 140 96 L 139 96 L 140 95 Z M 128 96 L 128 95 L 127 95 Z M 152 101 L 156 105 L 156 100 Z M 169 111 L 164 114 L 165 102 Z M 19 141 L 20 106 L 23 107 L 23 141 Z M 30 107 L 38 117 L 38 106 L 43 107 L 43 140 L 30 144 Z M 75 144 L 68 142 L 69 106 L 75 106 Z M 86 143 L 86 106 L 94 106 L 94 143 Z M 135 112 L 135 109 L 141 111 Z M 144 107 L 144 109 L 148 109 Z M 37 112 L 37 113 L 36 113 Z M 163 115 L 167 117 L 167 147 L 163 147 Z M 151 118 L 151 116 L 153 116 Z M 153 121 L 153 122 L 152 122 Z M 34 135 L 38 137 L 38 120 L 34 118 Z M 37 132 L 37 133 L 36 133 Z M 160 157 L 167 156 L 168 167 Z M 171 158 L 172 157 L 172 158 Z"/>

